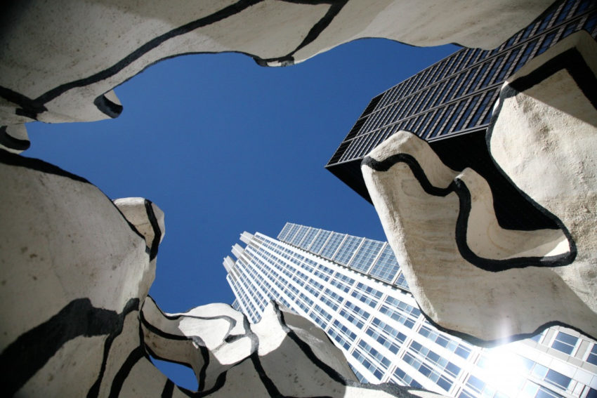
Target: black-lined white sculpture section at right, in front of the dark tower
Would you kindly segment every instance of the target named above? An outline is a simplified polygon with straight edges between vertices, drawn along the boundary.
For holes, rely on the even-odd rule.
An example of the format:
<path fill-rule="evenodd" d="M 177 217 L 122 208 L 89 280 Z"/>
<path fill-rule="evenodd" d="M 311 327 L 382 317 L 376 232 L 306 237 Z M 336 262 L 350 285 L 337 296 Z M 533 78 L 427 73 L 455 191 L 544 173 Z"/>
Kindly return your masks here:
<path fill-rule="evenodd" d="M 502 173 L 557 229 L 503 229 L 487 182 L 412 133 L 364 159 L 388 241 L 440 328 L 476 342 L 554 323 L 597 336 L 596 75 L 596 42 L 568 37 L 506 81 L 487 133 Z"/>

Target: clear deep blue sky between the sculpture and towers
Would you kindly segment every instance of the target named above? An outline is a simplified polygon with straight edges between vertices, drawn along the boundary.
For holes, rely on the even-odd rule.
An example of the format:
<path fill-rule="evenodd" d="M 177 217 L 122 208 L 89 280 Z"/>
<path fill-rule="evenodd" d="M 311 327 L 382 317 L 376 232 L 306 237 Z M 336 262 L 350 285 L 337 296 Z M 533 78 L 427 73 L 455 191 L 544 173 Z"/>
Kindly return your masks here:
<path fill-rule="evenodd" d="M 344 44 L 292 67 L 246 55 L 184 55 L 115 88 L 117 119 L 28 125 L 23 153 L 81 175 L 110 199 L 166 214 L 150 295 L 166 312 L 232 303 L 224 256 L 239 234 L 286 221 L 385 240 L 365 199 L 324 169 L 369 100 L 457 50 L 384 39 Z M 161 368 L 195 388 L 178 366 Z"/>

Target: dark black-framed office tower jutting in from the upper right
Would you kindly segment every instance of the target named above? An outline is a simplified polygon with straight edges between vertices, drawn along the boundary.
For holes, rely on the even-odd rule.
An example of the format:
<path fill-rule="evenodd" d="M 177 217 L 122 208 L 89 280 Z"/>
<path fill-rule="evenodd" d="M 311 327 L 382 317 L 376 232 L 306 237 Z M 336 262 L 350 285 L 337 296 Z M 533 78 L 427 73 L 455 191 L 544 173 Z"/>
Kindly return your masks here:
<path fill-rule="evenodd" d="M 499 180 L 485 131 L 501 84 L 527 60 L 580 29 L 597 37 L 597 1 L 557 2 L 493 51 L 463 48 L 436 62 L 373 98 L 326 168 L 371 201 L 360 162 L 381 141 L 407 130 L 430 142 L 447 166 L 469 166 L 487 180 Z M 503 195 L 511 201 L 511 194 L 506 188 Z"/>

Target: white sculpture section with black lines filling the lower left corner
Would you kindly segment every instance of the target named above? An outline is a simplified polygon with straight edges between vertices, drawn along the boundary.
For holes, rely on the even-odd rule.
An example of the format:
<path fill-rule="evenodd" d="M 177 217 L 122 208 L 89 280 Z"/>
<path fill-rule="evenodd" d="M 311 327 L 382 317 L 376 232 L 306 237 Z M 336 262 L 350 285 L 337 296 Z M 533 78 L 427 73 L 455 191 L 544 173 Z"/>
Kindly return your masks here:
<path fill-rule="evenodd" d="M 306 319 L 272 305 L 259 324 L 230 305 L 164 314 L 147 291 L 164 214 L 110 201 L 37 159 L 0 150 L 0 383 L 5 396 L 435 397 L 355 380 Z M 176 387 L 148 354 L 188 364 L 199 392 Z"/>

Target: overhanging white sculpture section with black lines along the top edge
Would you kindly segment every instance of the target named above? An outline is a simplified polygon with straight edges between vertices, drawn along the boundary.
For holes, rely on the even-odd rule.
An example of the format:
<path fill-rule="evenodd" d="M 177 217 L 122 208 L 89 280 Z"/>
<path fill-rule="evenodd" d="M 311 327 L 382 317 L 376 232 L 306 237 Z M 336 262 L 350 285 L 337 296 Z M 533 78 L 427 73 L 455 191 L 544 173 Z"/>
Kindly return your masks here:
<path fill-rule="evenodd" d="M 15 1 L 0 17 L 0 145 L 26 149 L 27 121 L 117 117 L 112 89 L 175 55 L 235 51 L 291 65 L 361 37 L 494 48 L 552 2 Z"/>

